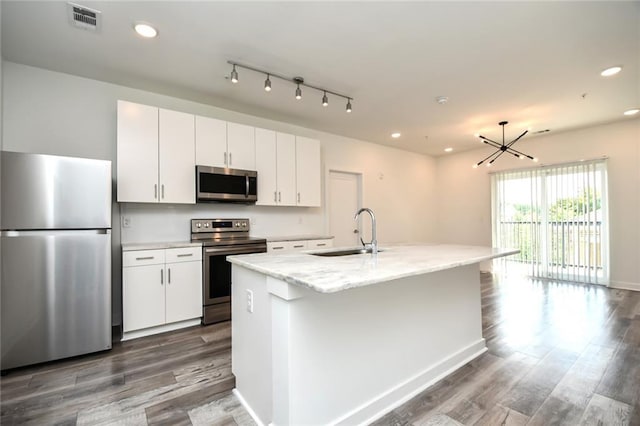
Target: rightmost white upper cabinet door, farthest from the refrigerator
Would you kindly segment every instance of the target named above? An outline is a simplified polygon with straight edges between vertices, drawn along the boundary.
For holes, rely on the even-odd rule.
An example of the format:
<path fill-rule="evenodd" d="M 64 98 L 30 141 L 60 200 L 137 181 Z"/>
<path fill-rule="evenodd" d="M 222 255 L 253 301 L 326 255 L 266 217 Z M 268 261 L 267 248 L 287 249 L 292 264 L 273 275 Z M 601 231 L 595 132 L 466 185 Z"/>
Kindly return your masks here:
<path fill-rule="evenodd" d="M 296 136 L 296 203 L 320 206 L 320 141 Z"/>

